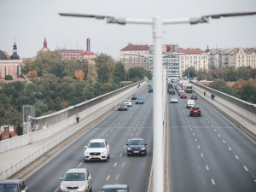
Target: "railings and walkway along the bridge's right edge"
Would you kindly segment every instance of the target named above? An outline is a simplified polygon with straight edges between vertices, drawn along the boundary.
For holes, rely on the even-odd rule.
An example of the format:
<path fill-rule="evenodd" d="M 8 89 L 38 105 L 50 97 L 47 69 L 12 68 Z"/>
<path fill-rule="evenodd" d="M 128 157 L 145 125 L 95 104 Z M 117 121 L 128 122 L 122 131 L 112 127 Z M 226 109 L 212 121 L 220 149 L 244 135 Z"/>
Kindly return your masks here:
<path fill-rule="evenodd" d="M 213 105 L 229 115 L 232 119 L 236 119 L 239 124 L 252 132 L 253 135 L 256 135 L 256 105 L 242 101 L 234 96 L 229 96 L 218 90 L 213 90 L 206 85 L 197 84 L 191 81 L 190 83 L 193 86 L 193 90 L 198 95 L 204 96 L 208 102 L 212 102 Z M 212 94 L 215 96 L 213 100 Z M 238 112 L 239 116 L 232 111 Z M 246 119 L 250 119 L 254 125 L 248 123 Z"/>

